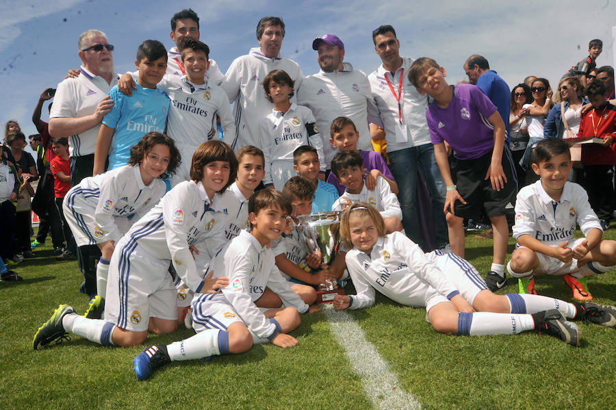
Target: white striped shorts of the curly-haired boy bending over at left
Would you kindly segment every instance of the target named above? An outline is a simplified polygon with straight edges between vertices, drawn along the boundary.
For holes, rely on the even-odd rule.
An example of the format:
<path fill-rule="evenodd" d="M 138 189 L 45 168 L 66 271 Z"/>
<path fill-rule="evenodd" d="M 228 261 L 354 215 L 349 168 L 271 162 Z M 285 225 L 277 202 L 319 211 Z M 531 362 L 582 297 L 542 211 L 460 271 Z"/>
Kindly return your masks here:
<path fill-rule="evenodd" d="M 94 210 L 99 199 L 91 196 L 88 190 L 84 190 L 79 185 L 71 189 L 64 197 L 62 210 L 64 218 L 68 222 L 70 231 L 77 246 L 96 245 L 107 242 L 105 233 L 94 219 Z M 124 216 L 114 216 L 114 222 L 120 233 L 124 235 L 131 227 L 131 222 Z"/>

